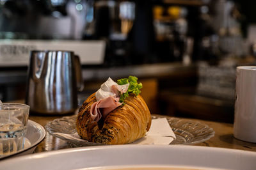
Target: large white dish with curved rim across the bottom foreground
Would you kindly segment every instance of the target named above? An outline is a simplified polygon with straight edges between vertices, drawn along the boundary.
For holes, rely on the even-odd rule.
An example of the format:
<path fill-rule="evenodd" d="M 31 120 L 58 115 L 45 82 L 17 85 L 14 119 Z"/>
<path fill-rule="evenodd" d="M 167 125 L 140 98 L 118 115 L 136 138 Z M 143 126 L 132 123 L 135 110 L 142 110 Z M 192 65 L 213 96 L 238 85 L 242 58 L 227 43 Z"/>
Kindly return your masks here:
<path fill-rule="evenodd" d="M 1 169 L 122 169 L 180 167 L 255 169 L 256 152 L 184 145 L 88 146 L 35 153 L 0 162 Z"/>

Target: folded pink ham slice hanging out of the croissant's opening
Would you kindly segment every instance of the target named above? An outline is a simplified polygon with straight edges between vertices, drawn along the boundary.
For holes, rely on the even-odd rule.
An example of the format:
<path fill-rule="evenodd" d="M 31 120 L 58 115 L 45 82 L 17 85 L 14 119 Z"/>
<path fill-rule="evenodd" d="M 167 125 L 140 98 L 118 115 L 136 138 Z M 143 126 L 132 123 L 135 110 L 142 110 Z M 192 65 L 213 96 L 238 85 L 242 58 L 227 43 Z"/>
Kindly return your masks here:
<path fill-rule="evenodd" d="M 119 98 L 107 97 L 95 102 L 91 106 L 90 114 L 93 121 L 99 121 L 100 118 L 105 119 L 109 112 L 122 105 Z"/>

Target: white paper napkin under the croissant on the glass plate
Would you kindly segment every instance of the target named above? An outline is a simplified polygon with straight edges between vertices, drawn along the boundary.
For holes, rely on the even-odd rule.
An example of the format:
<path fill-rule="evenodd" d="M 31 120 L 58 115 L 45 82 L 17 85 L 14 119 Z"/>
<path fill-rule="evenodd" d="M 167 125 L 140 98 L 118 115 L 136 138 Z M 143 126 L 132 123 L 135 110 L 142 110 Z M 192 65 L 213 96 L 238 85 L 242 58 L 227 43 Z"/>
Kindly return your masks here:
<path fill-rule="evenodd" d="M 62 134 L 56 132 L 53 134 L 61 137 L 61 139 L 67 139 L 67 141 L 76 140 L 77 142 L 88 143 L 88 141 L 81 139 L 77 133 Z M 173 139 L 176 139 L 176 137 L 168 121 L 166 118 L 160 118 L 152 120 L 151 127 L 145 137 L 141 137 L 132 144 L 170 144 Z"/>

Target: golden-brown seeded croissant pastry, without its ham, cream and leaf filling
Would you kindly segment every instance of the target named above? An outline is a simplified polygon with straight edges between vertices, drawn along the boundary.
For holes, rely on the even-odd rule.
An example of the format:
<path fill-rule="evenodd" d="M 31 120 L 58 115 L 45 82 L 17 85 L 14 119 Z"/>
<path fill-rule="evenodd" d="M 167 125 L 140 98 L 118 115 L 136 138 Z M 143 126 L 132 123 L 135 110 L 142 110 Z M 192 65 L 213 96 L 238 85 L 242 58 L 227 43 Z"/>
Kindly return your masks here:
<path fill-rule="evenodd" d="M 126 144 L 140 139 L 150 128 L 150 111 L 141 95 L 129 95 L 124 105 L 111 111 L 104 122 L 98 123 L 90 116 L 94 102 L 95 93 L 84 101 L 77 114 L 76 129 L 82 139 L 93 143 Z"/>

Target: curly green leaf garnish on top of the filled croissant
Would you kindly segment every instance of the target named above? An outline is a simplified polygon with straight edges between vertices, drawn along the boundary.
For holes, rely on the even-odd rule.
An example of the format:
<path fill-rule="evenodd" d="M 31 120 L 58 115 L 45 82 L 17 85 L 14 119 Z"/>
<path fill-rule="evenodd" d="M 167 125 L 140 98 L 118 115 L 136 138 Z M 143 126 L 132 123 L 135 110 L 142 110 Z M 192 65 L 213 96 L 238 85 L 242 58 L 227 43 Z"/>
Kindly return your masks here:
<path fill-rule="evenodd" d="M 117 80 L 117 84 L 118 85 L 124 85 L 127 83 L 129 84 L 129 88 L 127 89 L 127 91 L 125 93 L 122 93 L 120 95 L 120 100 L 119 102 L 124 102 L 125 98 L 129 97 L 129 93 L 134 93 L 134 95 L 139 95 L 141 93 L 140 89 L 142 88 L 142 83 L 138 83 L 138 78 L 134 77 L 134 76 L 129 76 L 129 78 L 125 78 L 125 79 L 119 79 Z"/>

